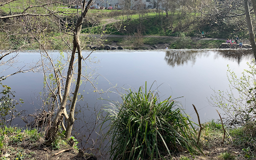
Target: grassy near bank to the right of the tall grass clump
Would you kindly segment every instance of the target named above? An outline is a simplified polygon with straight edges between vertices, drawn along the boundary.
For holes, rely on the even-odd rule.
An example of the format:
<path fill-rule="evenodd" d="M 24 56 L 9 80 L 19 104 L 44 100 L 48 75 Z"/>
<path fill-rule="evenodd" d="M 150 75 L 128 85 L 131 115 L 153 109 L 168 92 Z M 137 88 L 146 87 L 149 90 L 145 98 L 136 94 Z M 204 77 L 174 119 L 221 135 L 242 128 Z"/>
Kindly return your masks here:
<path fill-rule="evenodd" d="M 254 159 L 256 157 L 256 137 L 251 132 L 256 130 L 255 123 L 237 129 L 228 129 L 223 141 L 223 129 L 214 120 L 204 123 L 200 141 L 203 153 L 189 155 L 186 151 L 178 153 L 180 159 Z M 230 136 L 229 136 L 230 135 Z"/>

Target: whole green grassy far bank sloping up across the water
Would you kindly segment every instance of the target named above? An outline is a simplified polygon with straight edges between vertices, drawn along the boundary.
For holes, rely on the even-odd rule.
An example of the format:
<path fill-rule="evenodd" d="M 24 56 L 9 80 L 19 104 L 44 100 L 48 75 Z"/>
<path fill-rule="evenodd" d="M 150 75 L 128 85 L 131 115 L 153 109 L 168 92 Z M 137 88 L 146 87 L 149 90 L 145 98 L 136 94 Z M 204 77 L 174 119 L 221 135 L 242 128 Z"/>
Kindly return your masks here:
<path fill-rule="evenodd" d="M 32 3 L 32 2 L 31 2 Z M 18 4 L 13 4 L 13 10 L 9 7 L 3 7 L 2 14 L 14 14 L 18 10 L 14 10 Z M 74 12 L 76 9 L 68 9 L 67 6 L 52 6 L 53 9 Z M 6 9 L 6 10 L 4 10 Z M 7 10 L 8 9 L 8 10 Z M 8 11 L 8 12 L 7 12 Z M 38 11 L 39 12 L 39 11 Z M 185 16 L 186 15 L 186 16 Z M 198 14 L 196 14 L 198 15 Z M 75 15 L 63 14 L 62 19 L 71 22 L 76 21 Z M 169 17 L 165 12 L 156 10 L 89 10 L 89 20 L 86 20 L 82 26 L 81 42 L 83 49 L 87 46 L 110 45 L 117 47 L 121 45 L 123 49 L 215 49 L 219 48 L 226 38 L 235 38 L 237 35 L 242 40 L 248 38 L 247 27 L 241 18 L 235 20 L 230 19 L 228 23 L 213 23 L 207 18 L 198 19 L 194 13 L 177 10 L 169 13 Z M 10 19 L 12 21 L 12 19 Z M 13 19 L 13 21 L 15 21 Z M 226 20 L 227 21 L 227 20 Z M 17 21 L 15 21 L 17 22 Z M 213 23 L 209 28 L 209 23 Z M 239 28 L 231 30 L 238 26 Z M 43 34 L 38 30 L 34 33 L 36 24 L 45 26 Z M 188 25 L 189 24 L 189 25 Z M 243 25 L 241 25 L 243 24 Z M 21 23 L 20 25 L 24 25 Z M 0 49 L 21 49 L 35 50 L 44 46 L 46 50 L 67 50 L 72 43 L 72 33 L 69 31 L 60 31 L 59 27 L 49 19 L 37 18 L 33 19 L 33 25 L 25 33 L 21 30 L 17 33 L 15 26 L 5 28 L 1 31 Z M 221 31 L 220 31 L 221 30 Z M 204 39 L 201 37 L 201 31 L 204 31 L 206 38 L 215 38 L 214 40 Z M 90 34 L 90 36 L 85 36 Z M 104 36 L 101 36 L 104 34 Z M 183 41 L 185 40 L 185 41 Z M 69 46 L 67 46 L 67 44 Z M 157 47 L 155 47 L 157 46 Z"/>

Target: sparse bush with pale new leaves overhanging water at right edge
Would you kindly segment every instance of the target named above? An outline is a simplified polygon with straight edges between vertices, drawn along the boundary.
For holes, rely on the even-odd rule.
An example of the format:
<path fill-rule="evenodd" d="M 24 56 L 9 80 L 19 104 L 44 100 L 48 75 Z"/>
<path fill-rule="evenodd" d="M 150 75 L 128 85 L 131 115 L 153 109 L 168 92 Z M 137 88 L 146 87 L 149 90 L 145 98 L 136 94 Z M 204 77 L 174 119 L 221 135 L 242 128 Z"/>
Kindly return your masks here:
<path fill-rule="evenodd" d="M 237 77 L 228 66 L 228 80 L 230 91 L 214 91 L 209 101 L 212 106 L 220 107 L 227 116 L 229 125 L 242 126 L 256 120 L 256 68 L 255 62 L 244 70 L 242 77 Z M 238 95 L 236 97 L 236 95 Z"/>

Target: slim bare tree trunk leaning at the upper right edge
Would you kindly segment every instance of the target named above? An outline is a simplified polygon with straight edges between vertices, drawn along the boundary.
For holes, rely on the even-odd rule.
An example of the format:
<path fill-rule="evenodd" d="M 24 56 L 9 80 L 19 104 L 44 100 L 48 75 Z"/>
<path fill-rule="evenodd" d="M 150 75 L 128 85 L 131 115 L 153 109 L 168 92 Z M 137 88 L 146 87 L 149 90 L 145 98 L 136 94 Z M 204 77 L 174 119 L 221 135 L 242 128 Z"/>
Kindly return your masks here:
<path fill-rule="evenodd" d="M 246 15 L 248 31 L 249 31 L 249 39 L 250 39 L 250 43 L 252 45 L 254 59 L 256 59 L 256 44 L 255 44 L 255 39 L 254 39 L 254 34 L 253 34 L 252 21 L 251 21 L 251 16 L 250 16 L 250 11 L 249 11 L 248 0 L 244 0 L 244 10 L 245 10 L 245 15 Z M 255 12 L 255 10 L 254 10 L 254 12 Z"/>

